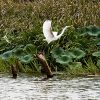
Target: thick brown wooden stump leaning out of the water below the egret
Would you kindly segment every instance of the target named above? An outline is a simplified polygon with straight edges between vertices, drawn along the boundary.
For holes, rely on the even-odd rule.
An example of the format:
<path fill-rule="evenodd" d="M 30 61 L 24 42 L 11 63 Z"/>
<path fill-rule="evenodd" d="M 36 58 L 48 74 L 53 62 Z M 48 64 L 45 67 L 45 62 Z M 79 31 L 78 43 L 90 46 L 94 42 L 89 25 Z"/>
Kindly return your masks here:
<path fill-rule="evenodd" d="M 38 58 L 39 62 L 41 63 L 43 70 L 44 70 L 45 74 L 47 75 L 47 78 L 52 78 L 53 73 L 48 65 L 48 62 L 47 62 L 44 54 L 43 53 L 37 54 L 37 58 Z"/>

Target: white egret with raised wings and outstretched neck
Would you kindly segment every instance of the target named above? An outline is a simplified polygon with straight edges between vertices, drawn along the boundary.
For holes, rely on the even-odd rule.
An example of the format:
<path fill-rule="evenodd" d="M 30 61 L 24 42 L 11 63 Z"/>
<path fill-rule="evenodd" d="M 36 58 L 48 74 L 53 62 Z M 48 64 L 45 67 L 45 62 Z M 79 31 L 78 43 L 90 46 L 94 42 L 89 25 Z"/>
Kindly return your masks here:
<path fill-rule="evenodd" d="M 43 34 L 45 36 L 45 39 L 48 44 L 52 41 L 55 41 L 55 40 L 58 40 L 62 35 L 63 33 L 65 32 L 65 30 L 67 28 L 69 28 L 71 26 L 65 26 L 61 33 L 58 35 L 58 32 L 54 32 L 52 31 L 52 26 L 51 26 L 51 20 L 46 20 L 44 23 L 43 23 Z"/>

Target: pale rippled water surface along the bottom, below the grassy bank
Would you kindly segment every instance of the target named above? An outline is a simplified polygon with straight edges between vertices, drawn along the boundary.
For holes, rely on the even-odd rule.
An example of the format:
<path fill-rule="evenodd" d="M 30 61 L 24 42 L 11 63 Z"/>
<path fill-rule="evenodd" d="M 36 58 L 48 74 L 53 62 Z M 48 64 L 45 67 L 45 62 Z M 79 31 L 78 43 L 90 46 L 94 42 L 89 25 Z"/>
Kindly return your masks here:
<path fill-rule="evenodd" d="M 0 78 L 0 100 L 100 100 L 100 78 Z"/>

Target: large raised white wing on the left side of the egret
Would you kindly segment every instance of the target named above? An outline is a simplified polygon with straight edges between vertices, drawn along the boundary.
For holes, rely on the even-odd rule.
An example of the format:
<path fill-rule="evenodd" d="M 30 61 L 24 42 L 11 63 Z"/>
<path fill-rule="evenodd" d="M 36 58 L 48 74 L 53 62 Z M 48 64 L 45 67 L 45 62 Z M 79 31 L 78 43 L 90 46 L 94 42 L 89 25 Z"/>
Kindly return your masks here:
<path fill-rule="evenodd" d="M 46 39 L 51 39 L 54 37 L 52 33 L 51 20 L 46 20 L 43 23 L 43 34 Z"/>

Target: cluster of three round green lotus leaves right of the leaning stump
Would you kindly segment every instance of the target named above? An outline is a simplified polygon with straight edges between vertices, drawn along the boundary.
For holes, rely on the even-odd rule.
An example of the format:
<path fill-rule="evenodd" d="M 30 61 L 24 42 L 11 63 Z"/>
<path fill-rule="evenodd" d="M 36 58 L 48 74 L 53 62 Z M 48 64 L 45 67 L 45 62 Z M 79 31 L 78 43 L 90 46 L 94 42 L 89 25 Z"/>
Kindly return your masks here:
<path fill-rule="evenodd" d="M 55 48 L 51 51 L 51 54 L 56 59 L 56 62 L 60 64 L 68 64 L 72 62 L 72 59 L 85 57 L 85 52 L 79 48 L 73 48 L 69 51 L 64 51 L 62 48 Z"/>

